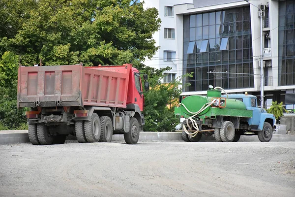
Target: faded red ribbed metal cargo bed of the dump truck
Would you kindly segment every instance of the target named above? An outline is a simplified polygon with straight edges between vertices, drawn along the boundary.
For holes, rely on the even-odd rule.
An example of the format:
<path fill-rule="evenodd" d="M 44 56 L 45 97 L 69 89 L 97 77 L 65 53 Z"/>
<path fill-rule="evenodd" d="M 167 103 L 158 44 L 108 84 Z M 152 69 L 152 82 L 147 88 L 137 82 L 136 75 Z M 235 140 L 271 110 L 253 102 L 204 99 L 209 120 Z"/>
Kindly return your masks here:
<path fill-rule="evenodd" d="M 131 65 L 21 66 L 18 107 L 126 107 Z"/>

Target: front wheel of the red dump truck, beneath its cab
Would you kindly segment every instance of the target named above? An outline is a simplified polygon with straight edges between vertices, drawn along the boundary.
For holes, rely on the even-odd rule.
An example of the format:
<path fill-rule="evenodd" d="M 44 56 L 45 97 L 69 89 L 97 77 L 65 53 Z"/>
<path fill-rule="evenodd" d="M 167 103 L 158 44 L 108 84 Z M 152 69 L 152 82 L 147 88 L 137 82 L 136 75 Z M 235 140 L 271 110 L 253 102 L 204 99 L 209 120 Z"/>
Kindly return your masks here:
<path fill-rule="evenodd" d="M 129 132 L 124 133 L 124 139 L 126 144 L 137 144 L 139 139 L 139 124 L 136 118 L 130 119 L 130 129 Z"/>

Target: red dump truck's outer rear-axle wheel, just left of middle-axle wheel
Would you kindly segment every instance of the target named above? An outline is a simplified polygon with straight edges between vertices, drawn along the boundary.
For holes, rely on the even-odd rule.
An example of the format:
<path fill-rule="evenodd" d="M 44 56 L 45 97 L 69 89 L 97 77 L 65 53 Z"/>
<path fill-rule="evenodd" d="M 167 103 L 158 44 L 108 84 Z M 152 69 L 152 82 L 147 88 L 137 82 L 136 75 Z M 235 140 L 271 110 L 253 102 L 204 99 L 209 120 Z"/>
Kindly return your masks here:
<path fill-rule="evenodd" d="M 98 142 L 100 139 L 100 120 L 97 113 L 93 113 L 90 121 L 84 122 L 84 132 L 87 142 Z"/>

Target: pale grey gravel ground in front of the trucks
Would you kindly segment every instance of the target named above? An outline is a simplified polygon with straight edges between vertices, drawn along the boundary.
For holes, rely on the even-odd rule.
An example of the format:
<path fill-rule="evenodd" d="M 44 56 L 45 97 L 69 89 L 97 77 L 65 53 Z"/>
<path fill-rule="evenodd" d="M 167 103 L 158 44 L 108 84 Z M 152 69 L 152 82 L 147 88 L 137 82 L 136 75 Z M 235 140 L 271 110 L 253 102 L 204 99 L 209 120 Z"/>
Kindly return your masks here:
<path fill-rule="evenodd" d="M 0 145 L 0 196 L 295 196 L 295 142 L 66 142 Z"/>

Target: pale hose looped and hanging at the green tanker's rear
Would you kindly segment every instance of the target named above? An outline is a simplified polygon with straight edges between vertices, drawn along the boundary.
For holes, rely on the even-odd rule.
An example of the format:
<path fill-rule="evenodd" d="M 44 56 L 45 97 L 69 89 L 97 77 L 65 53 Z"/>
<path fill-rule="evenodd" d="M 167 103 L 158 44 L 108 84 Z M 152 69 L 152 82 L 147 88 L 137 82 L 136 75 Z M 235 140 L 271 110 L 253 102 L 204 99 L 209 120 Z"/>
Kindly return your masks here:
<path fill-rule="evenodd" d="M 214 99 L 214 100 L 212 100 L 211 102 L 207 102 L 206 104 L 204 104 L 204 105 L 201 107 L 201 109 L 200 109 L 199 111 L 197 111 L 197 112 L 195 112 L 195 113 L 189 111 L 189 110 L 186 108 L 186 106 L 185 106 L 184 104 L 182 104 L 182 103 L 179 103 L 179 104 L 178 104 L 178 105 L 182 105 L 182 106 L 183 106 L 183 107 L 184 107 L 189 113 L 194 114 L 194 115 L 192 115 L 191 117 L 189 117 L 189 118 L 186 119 L 186 126 L 188 127 L 189 130 L 192 130 L 192 129 L 194 128 L 196 131 L 190 133 L 189 131 L 187 131 L 187 129 L 185 128 L 184 124 L 182 124 L 182 128 L 183 128 L 183 130 L 185 131 L 186 134 L 191 135 L 192 137 L 195 137 L 195 136 L 198 134 L 198 132 L 199 132 L 198 124 L 197 124 L 197 122 L 196 122 L 194 119 L 192 119 L 192 118 L 195 117 L 195 116 L 197 116 L 197 115 L 200 114 L 201 112 L 203 112 L 203 111 L 204 111 L 205 109 L 207 109 L 211 104 L 213 104 L 216 100 L 217 100 L 217 99 Z M 193 126 L 193 128 L 191 128 L 190 125 L 188 124 L 188 120 L 190 120 L 190 121 L 192 122 L 192 126 Z"/>

